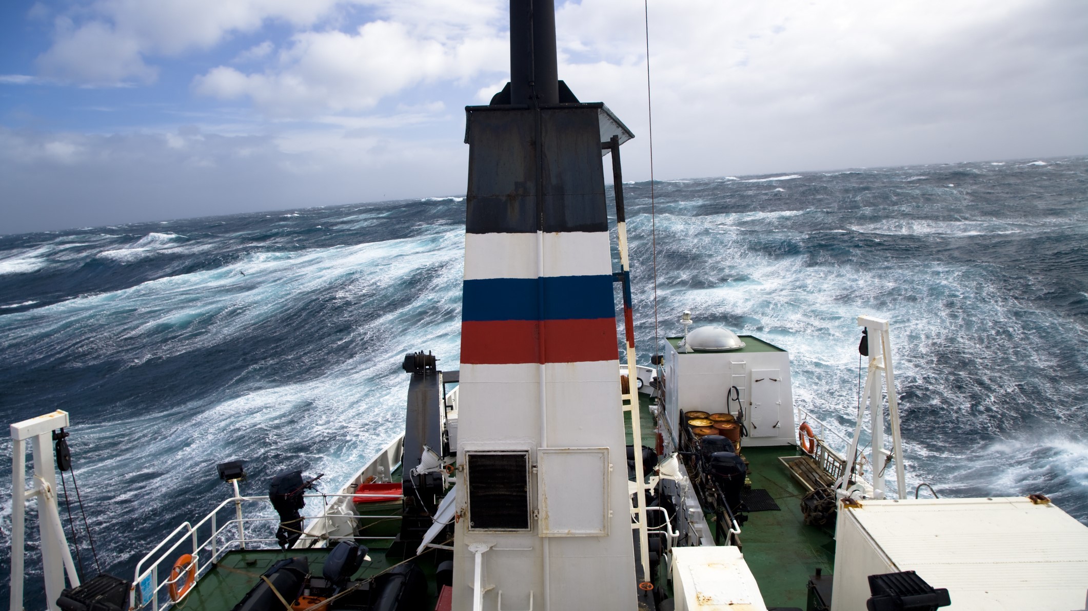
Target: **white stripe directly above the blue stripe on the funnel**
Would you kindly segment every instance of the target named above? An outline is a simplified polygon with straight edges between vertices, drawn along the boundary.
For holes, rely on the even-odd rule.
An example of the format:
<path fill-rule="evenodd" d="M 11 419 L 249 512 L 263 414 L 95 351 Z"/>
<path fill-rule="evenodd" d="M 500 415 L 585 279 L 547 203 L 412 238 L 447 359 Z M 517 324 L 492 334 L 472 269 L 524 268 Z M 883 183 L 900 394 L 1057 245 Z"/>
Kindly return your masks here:
<path fill-rule="evenodd" d="M 540 234 L 466 234 L 465 279 L 536 278 Z M 544 276 L 611 275 L 607 232 L 546 233 Z"/>

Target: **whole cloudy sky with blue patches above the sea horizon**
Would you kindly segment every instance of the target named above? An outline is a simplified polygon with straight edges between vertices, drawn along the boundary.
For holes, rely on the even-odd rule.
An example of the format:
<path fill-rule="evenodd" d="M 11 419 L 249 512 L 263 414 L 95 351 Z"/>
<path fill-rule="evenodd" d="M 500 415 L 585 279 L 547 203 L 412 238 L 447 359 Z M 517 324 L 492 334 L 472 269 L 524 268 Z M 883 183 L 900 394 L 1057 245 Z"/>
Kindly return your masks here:
<path fill-rule="evenodd" d="M 657 179 L 1088 153 L 1083 0 L 557 0 Z M 0 234 L 465 192 L 503 0 L 0 3 Z"/>

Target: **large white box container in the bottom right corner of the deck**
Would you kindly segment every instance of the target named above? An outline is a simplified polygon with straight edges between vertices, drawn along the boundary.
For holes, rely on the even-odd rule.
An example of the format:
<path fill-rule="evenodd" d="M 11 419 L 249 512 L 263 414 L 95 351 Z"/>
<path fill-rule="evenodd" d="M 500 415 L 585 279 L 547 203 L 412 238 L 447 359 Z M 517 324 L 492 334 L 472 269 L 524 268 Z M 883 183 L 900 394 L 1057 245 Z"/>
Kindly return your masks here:
<path fill-rule="evenodd" d="M 868 575 L 915 571 L 950 611 L 1072 611 L 1088 593 L 1088 526 L 1026 497 L 862 500 L 836 526 L 832 611 L 865 609 Z"/>

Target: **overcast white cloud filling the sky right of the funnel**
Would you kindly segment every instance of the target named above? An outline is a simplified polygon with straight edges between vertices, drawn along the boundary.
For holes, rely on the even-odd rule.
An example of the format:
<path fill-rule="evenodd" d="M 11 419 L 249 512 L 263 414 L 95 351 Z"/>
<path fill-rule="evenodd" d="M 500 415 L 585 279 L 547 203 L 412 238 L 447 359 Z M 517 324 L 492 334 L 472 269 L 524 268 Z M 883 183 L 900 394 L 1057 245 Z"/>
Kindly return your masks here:
<path fill-rule="evenodd" d="M 1084 151 L 1086 7 L 652 2 L 657 175 Z M 641 4 L 567 3 L 557 28 L 560 77 L 634 129 L 625 159 L 646 167 Z"/>

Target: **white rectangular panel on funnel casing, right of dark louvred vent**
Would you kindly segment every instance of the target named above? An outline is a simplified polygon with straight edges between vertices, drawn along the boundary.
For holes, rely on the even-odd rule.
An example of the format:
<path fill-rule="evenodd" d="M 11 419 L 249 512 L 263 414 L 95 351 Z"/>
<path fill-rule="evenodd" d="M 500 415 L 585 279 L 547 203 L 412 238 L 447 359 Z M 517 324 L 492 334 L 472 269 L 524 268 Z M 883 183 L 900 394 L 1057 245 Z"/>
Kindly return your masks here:
<path fill-rule="evenodd" d="M 608 448 L 541 448 L 536 467 L 541 536 L 608 534 Z"/>

